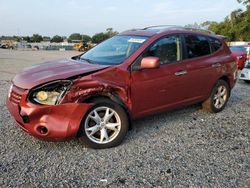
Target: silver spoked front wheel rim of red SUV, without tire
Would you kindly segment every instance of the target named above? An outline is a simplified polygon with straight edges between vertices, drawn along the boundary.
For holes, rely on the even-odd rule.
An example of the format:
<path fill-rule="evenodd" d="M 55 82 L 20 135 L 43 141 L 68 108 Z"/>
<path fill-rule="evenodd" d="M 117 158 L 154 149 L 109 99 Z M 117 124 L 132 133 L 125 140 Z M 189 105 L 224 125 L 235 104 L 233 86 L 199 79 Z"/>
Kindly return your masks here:
<path fill-rule="evenodd" d="M 97 107 L 87 115 L 84 130 L 91 141 L 97 144 L 107 144 L 119 135 L 121 119 L 112 108 Z"/>

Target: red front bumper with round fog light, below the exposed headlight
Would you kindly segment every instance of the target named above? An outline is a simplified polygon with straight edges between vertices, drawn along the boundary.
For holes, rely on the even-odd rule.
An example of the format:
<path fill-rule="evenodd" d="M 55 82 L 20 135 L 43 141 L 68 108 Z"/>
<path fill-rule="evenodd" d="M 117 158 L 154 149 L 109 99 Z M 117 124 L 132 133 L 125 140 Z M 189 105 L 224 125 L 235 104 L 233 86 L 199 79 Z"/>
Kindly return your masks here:
<path fill-rule="evenodd" d="M 28 91 L 24 91 L 19 98 L 14 95 L 13 99 L 10 94 L 6 100 L 7 108 L 20 128 L 43 140 L 65 140 L 76 136 L 84 114 L 92 106 L 79 103 L 35 105 L 26 100 L 27 95 Z"/>

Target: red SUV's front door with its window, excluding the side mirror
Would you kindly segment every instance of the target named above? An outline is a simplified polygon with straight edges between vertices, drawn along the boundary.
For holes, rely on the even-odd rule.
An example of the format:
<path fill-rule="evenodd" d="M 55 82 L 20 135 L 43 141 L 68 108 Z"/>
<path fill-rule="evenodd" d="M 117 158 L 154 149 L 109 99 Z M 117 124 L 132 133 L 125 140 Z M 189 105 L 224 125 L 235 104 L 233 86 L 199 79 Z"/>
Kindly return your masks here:
<path fill-rule="evenodd" d="M 160 59 L 156 69 L 136 70 L 143 57 Z M 132 67 L 131 100 L 135 117 L 178 106 L 186 100 L 186 65 L 182 63 L 180 36 L 166 36 L 149 47 Z"/>

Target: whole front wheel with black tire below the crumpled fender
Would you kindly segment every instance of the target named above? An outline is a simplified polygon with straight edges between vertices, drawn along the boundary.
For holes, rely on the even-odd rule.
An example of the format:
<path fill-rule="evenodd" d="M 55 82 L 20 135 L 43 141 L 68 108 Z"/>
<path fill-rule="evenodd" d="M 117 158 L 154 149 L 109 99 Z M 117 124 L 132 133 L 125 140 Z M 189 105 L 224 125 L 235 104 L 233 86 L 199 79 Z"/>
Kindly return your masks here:
<path fill-rule="evenodd" d="M 95 149 L 119 145 L 129 127 L 126 112 L 108 99 L 97 99 L 93 103 L 81 123 L 82 141 L 87 147 Z"/>

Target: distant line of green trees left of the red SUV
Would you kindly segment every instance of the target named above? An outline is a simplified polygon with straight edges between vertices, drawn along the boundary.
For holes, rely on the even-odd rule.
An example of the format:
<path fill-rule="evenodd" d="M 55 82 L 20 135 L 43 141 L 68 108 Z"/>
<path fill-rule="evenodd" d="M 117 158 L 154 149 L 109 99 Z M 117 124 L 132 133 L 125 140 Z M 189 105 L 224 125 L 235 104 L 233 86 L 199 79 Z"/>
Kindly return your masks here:
<path fill-rule="evenodd" d="M 1 40 L 16 40 L 20 42 L 21 40 L 27 41 L 27 42 L 42 42 L 42 41 L 49 41 L 49 42 L 55 42 L 55 43 L 61 43 L 63 41 L 68 42 L 92 42 L 92 43 L 100 43 L 114 35 L 117 35 L 118 32 L 114 31 L 113 28 L 107 28 L 105 32 L 96 33 L 92 37 L 85 34 L 80 33 L 72 33 L 69 37 L 66 36 L 59 36 L 55 35 L 52 38 L 49 36 L 42 36 L 39 34 L 33 34 L 32 36 L 2 36 L 0 37 Z"/>

